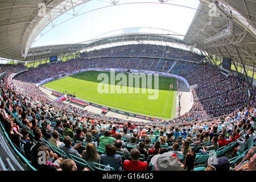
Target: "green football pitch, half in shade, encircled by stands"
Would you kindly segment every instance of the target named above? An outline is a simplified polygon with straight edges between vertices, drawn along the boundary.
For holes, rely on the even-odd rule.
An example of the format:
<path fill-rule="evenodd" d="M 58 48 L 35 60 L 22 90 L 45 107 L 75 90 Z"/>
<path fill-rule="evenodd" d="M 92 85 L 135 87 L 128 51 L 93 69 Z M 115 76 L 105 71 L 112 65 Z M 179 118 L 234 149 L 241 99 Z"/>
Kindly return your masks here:
<path fill-rule="evenodd" d="M 101 73 L 105 74 L 105 79 L 98 78 Z M 138 74 L 122 73 L 126 79 L 124 79 L 125 77 L 121 79 L 115 72 L 114 78 L 117 77 L 114 81 L 110 81 L 110 78 L 113 78 L 113 75 L 110 74 L 110 72 L 88 71 L 49 82 L 44 86 L 61 93 L 65 91 L 70 94 L 75 93 L 76 97 L 82 100 L 129 113 L 163 119 L 176 117 L 176 78 L 159 76 L 158 89 L 154 89 L 157 88 L 154 76 L 151 77 L 152 84 L 146 84 L 145 88 L 145 85 L 142 84 L 142 82 L 145 83 L 145 80 L 142 81 L 143 79 L 140 78 L 139 84 L 135 84 L 135 79 L 130 77 L 138 76 Z M 146 77 L 147 83 L 148 75 L 143 76 Z M 109 79 L 106 79 L 107 77 Z M 133 85 L 130 84 L 129 86 L 131 80 L 133 80 Z M 127 84 L 123 81 L 126 81 Z M 170 84 L 174 86 L 174 91 L 170 91 Z M 99 88 L 105 89 L 105 92 L 99 92 Z M 123 93 L 118 92 L 118 89 L 122 89 Z M 154 92 L 155 96 L 158 93 L 158 98 L 149 99 L 154 95 Z"/>

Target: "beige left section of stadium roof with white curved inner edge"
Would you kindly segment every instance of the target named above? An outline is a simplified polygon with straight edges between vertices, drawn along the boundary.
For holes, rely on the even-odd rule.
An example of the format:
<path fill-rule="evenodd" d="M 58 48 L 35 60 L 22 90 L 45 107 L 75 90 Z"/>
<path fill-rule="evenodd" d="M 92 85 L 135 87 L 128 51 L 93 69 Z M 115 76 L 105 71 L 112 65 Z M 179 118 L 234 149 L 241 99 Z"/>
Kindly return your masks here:
<path fill-rule="evenodd" d="M 54 19 L 86 0 L 0 2 L 0 57 L 24 60 L 36 36 Z M 46 15 L 43 15 L 47 12 Z"/>

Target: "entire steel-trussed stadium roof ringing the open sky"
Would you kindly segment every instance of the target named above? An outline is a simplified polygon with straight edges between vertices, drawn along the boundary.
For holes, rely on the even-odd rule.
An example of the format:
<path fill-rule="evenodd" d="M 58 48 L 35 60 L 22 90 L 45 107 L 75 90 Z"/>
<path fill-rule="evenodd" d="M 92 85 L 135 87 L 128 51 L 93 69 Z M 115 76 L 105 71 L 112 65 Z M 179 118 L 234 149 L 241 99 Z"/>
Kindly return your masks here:
<path fill-rule="evenodd" d="M 88 0 L 90 1 L 90 0 Z M 36 36 L 60 15 L 87 2 L 86 0 L 10 0 L 0 2 L 0 57 L 25 61 L 52 53 L 79 51 L 92 45 L 105 44 L 113 40 L 159 40 L 179 42 L 167 35 L 126 34 L 109 36 L 84 44 L 64 44 L 30 48 Z M 45 16 L 39 9 L 45 3 Z M 164 1 L 159 1 L 164 3 Z M 180 43 L 199 48 L 216 56 L 231 57 L 238 63 L 253 65 L 256 47 L 256 3 L 251 0 L 200 0 L 200 6 L 185 38 Z M 44 9 L 43 9 L 44 10 Z M 232 11 L 232 13 L 230 13 Z M 75 13 L 75 12 L 74 12 Z M 48 49 L 48 50 L 46 50 Z M 36 51 L 35 51 L 36 50 Z M 36 53 L 36 55 L 32 55 Z M 28 55 L 27 55 L 28 54 Z M 242 60 L 242 61 L 241 61 Z M 245 62 L 243 62 L 245 61 Z"/>

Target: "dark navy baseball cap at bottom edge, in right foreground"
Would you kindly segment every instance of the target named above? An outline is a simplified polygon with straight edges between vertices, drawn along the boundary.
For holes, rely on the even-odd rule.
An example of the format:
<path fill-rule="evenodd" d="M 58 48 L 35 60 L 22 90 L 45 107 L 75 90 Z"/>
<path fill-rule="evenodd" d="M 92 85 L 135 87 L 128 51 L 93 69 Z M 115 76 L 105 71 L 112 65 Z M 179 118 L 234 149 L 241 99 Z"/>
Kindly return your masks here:
<path fill-rule="evenodd" d="M 229 171 L 230 163 L 226 157 L 216 158 L 216 156 L 210 156 L 208 164 L 212 166 L 215 171 Z"/>

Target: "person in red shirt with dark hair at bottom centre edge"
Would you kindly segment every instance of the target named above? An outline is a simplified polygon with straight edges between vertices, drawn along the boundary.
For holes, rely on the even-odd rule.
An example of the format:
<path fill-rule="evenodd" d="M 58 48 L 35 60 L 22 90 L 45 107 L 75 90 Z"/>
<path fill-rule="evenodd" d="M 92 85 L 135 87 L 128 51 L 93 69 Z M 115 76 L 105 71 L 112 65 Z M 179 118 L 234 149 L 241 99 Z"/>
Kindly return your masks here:
<path fill-rule="evenodd" d="M 131 160 L 126 160 L 123 162 L 123 169 L 125 171 L 146 171 L 147 163 L 139 161 L 139 155 L 141 153 L 137 148 L 131 150 Z"/>

